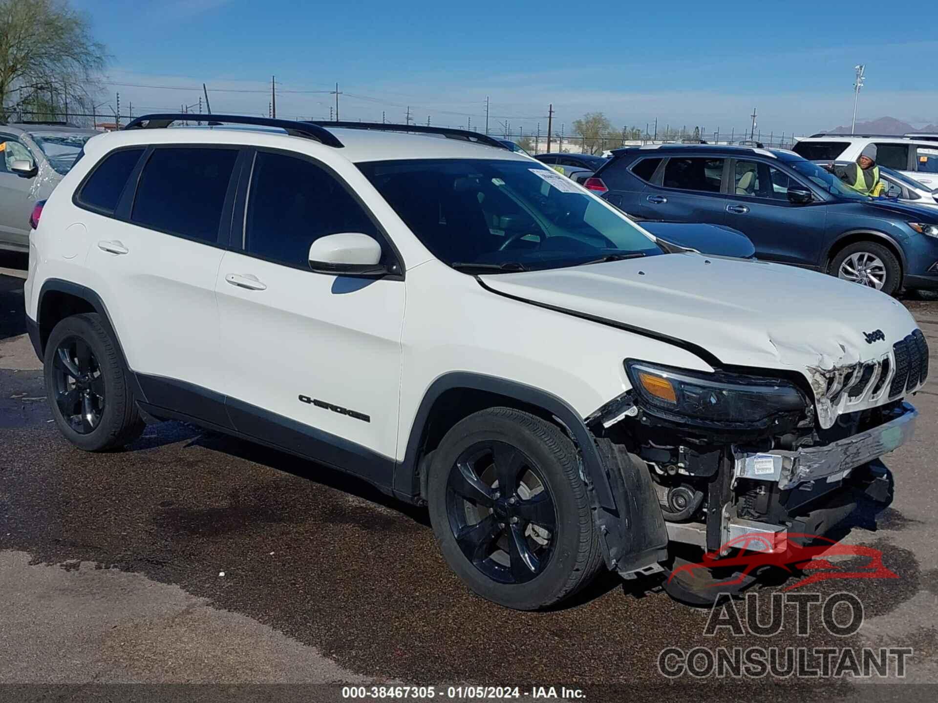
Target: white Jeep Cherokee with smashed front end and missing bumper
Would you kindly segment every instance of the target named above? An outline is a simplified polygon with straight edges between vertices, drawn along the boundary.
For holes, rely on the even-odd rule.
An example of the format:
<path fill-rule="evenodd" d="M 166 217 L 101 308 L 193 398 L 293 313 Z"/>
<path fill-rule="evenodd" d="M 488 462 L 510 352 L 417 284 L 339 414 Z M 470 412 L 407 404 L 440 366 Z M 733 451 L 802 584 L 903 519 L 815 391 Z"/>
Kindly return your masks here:
<path fill-rule="evenodd" d="M 76 446 L 175 418 L 350 471 L 515 608 L 887 498 L 928 369 L 889 296 L 675 249 L 474 133 L 183 118 L 93 138 L 34 213 Z"/>

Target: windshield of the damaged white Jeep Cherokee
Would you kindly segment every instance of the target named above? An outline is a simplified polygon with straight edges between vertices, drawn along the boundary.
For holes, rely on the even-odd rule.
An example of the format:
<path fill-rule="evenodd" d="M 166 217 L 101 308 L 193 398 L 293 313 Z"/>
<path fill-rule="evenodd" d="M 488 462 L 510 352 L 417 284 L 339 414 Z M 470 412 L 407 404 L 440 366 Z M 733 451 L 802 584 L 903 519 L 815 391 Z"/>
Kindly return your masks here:
<path fill-rule="evenodd" d="M 428 159 L 359 163 L 433 256 L 533 270 L 662 250 L 629 219 L 531 161 Z"/>

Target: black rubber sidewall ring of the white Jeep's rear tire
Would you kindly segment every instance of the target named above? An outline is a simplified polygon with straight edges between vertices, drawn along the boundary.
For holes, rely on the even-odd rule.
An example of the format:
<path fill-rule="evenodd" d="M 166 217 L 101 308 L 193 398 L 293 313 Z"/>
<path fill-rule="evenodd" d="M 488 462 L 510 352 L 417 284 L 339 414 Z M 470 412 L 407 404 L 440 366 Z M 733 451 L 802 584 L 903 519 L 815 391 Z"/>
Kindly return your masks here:
<path fill-rule="evenodd" d="M 104 411 L 101 413 L 101 421 L 98 426 L 87 434 L 76 432 L 69 424 L 62 412 L 59 411 L 58 404 L 55 402 L 55 382 L 53 375 L 56 373 L 54 367 L 55 350 L 59 344 L 67 337 L 79 337 L 90 347 L 98 362 L 101 376 L 104 380 Z M 45 377 L 46 396 L 49 398 L 49 406 L 53 413 L 53 419 L 59 430 L 65 435 L 65 438 L 75 446 L 94 451 L 107 443 L 107 440 L 113 434 L 111 428 L 120 423 L 118 413 L 120 409 L 116 402 L 119 393 L 123 393 L 123 388 L 118 387 L 119 378 L 115 375 L 122 374 L 119 368 L 114 369 L 109 363 L 110 357 L 104 344 L 98 337 L 98 332 L 94 326 L 83 316 L 73 316 L 59 322 L 53 328 L 49 340 L 46 342 L 46 352 L 43 359 L 43 376 Z"/>

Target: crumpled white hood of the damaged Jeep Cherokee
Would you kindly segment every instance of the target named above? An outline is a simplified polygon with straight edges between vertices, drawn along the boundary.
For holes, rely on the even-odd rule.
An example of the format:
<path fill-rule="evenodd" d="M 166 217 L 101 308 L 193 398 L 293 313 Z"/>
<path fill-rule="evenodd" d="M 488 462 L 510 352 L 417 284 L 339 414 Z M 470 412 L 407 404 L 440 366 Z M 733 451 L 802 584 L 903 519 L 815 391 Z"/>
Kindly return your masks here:
<path fill-rule="evenodd" d="M 882 357 L 917 326 L 870 288 L 694 253 L 481 278 L 498 292 L 692 342 L 725 365 L 797 370 L 809 382 L 811 369 Z M 875 330 L 885 339 L 868 342 Z"/>

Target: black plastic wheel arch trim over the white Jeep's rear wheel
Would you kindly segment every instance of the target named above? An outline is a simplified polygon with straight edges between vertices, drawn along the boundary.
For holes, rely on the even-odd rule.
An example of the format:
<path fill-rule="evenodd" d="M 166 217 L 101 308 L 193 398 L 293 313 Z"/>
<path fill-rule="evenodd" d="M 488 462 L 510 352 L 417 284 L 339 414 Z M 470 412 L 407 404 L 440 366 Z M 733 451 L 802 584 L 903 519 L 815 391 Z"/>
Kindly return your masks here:
<path fill-rule="evenodd" d="M 55 325 L 67 317 L 82 313 L 98 313 L 101 324 L 117 346 L 121 364 L 129 372 L 127 376 L 134 395 L 145 402 L 146 396 L 144 396 L 144 392 L 137 381 L 136 374 L 130 372 L 127 356 L 124 354 L 124 347 L 113 328 L 108 308 L 101 300 L 101 296 L 87 286 L 62 280 L 61 278 L 49 278 L 42 284 L 42 288 L 39 290 L 37 307 L 37 339 L 34 342 L 39 359 L 45 358 L 46 342 L 49 341 L 49 336 L 52 334 Z"/>

